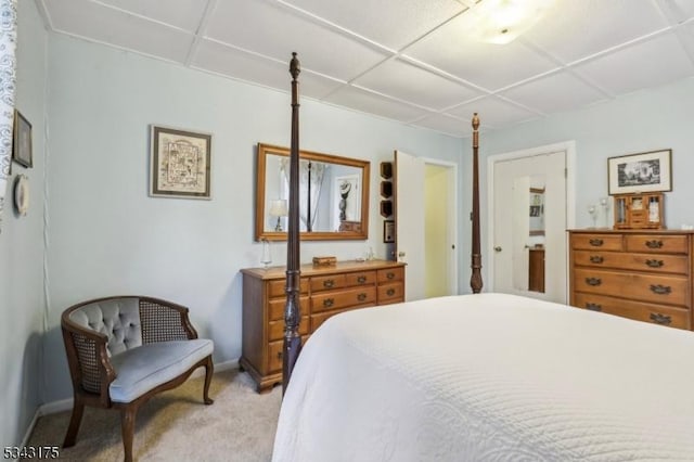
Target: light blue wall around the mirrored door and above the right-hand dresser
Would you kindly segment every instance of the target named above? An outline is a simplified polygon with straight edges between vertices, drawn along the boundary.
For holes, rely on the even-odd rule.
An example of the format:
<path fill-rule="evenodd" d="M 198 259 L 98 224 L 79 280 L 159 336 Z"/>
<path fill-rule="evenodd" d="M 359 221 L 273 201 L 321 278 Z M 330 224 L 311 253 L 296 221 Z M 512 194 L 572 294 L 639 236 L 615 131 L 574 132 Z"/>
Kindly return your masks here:
<path fill-rule="evenodd" d="M 479 115 L 484 124 L 484 114 Z M 672 150 L 672 191 L 666 193 L 667 228 L 694 224 L 694 79 L 644 90 L 581 111 L 518 125 L 498 132 L 480 133 L 480 184 L 483 205 L 483 266 L 486 243 L 488 155 L 530 149 L 563 141 L 576 141 L 576 224 L 592 226 L 587 208 L 607 195 L 607 158 L 625 154 Z M 464 140 L 464 170 L 470 184 L 472 149 Z M 463 255 L 470 255 L 464 239 Z M 486 275 L 486 272 L 483 271 Z M 466 278 L 470 268 L 466 266 Z"/>

